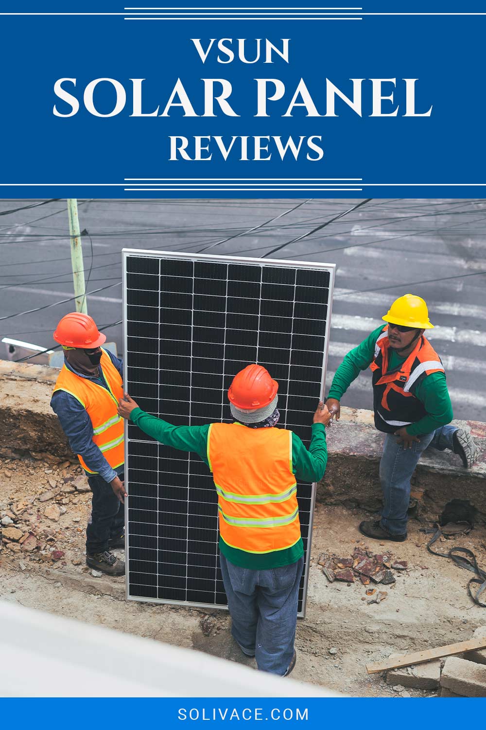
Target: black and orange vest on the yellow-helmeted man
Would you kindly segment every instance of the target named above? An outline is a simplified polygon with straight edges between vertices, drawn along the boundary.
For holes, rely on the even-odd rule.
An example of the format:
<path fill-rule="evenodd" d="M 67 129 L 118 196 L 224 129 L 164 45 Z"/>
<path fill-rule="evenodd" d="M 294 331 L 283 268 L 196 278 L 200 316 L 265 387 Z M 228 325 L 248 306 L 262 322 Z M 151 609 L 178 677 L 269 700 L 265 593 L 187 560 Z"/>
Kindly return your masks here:
<path fill-rule="evenodd" d="M 426 337 L 420 337 L 412 353 L 396 369 L 388 369 L 388 325 L 375 344 L 375 359 L 369 366 L 373 373 L 373 410 L 379 431 L 395 433 L 427 415 L 414 391 L 426 375 L 444 372 L 442 362 Z"/>

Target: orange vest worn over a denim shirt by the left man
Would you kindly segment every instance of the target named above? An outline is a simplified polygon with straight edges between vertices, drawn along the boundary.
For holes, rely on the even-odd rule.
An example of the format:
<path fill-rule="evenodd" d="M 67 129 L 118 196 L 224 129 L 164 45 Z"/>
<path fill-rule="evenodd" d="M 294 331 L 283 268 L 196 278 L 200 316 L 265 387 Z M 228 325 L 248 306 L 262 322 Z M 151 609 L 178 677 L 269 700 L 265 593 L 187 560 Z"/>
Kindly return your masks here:
<path fill-rule="evenodd" d="M 64 365 L 52 393 L 56 391 L 70 393 L 87 410 L 93 423 L 93 442 L 103 452 L 111 468 L 116 469 L 125 461 L 123 419 L 117 414 L 118 401 L 123 396 L 123 381 L 103 348 L 101 348 L 100 365 L 109 391 L 102 385 L 93 383 L 93 380 L 79 377 Z M 93 472 L 85 464 L 81 454 L 77 457 L 83 469 L 90 474 L 98 473 Z"/>

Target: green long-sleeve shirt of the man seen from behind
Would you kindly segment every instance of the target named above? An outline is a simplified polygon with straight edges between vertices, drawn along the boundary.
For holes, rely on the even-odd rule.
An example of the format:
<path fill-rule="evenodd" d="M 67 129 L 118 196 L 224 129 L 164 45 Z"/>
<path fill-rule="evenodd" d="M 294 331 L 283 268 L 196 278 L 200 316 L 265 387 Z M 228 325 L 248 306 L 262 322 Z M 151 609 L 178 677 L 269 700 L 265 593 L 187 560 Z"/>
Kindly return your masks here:
<path fill-rule="evenodd" d="M 209 469 L 208 462 L 208 430 L 205 426 L 173 426 L 162 418 L 149 415 L 141 408 L 135 408 L 130 414 L 133 423 L 145 434 L 181 451 L 194 451 L 203 459 Z M 292 470 L 296 479 L 302 482 L 318 482 L 324 476 L 327 464 L 326 429 L 322 423 L 313 423 L 312 438 L 309 450 L 301 439 L 292 431 Z M 275 550 L 272 553 L 247 553 L 246 550 L 231 548 L 219 537 L 219 550 L 233 565 L 253 570 L 267 570 L 283 565 L 291 565 L 302 558 L 304 546 L 302 538 L 291 548 Z"/>

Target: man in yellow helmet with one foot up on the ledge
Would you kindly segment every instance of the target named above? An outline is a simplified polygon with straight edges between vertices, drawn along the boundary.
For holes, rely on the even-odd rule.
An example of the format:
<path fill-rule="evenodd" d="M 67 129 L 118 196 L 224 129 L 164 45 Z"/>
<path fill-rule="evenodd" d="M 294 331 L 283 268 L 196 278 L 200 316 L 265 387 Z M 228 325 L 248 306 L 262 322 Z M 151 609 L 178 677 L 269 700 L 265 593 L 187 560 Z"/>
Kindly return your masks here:
<path fill-rule="evenodd" d="M 380 520 L 359 526 L 367 537 L 401 542 L 407 539 L 410 478 L 423 450 L 450 449 L 463 466 L 477 459 L 477 447 L 452 420 L 444 367 L 426 339 L 426 302 L 413 294 L 393 301 L 377 327 L 345 356 L 332 380 L 326 405 L 340 418 L 340 399 L 361 370 L 372 369 L 375 426 L 385 441 L 380 461 L 383 510 Z"/>

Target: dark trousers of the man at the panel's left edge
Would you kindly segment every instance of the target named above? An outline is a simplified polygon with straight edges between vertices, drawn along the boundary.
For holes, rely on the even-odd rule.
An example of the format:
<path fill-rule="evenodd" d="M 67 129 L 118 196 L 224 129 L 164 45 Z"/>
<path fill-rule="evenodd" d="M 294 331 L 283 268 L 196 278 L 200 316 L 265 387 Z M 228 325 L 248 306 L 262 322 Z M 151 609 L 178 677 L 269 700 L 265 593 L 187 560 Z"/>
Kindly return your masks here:
<path fill-rule="evenodd" d="M 120 474 L 120 480 L 125 476 Z M 103 553 L 108 550 L 108 541 L 119 537 L 125 527 L 125 507 L 111 488 L 99 474 L 91 474 L 87 478 L 93 492 L 91 517 L 86 528 L 86 552 L 88 555 Z"/>

